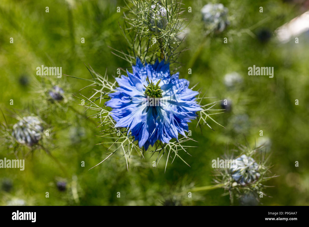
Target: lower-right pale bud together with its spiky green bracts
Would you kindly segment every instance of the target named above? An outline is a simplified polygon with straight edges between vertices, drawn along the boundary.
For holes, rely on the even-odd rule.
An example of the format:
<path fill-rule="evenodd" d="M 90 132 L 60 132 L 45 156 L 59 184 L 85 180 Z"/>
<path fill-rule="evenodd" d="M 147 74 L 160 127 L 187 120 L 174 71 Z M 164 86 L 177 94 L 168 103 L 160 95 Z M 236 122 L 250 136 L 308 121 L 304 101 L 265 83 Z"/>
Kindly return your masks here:
<path fill-rule="evenodd" d="M 233 154 L 225 157 L 227 160 L 235 159 L 233 163 L 236 166 L 216 169 L 214 182 L 217 183 L 217 187 L 229 191 L 232 204 L 234 196 L 236 196 L 240 204 L 255 205 L 253 199 L 258 201 L 258 195 L 261 193 L 266 195 L 263 191 L 269 186 L 264 185 L 264 183 L 270 178 L 277 177 L 277 175 L 269 176 L 269 174 L 272 174 L 271 166 L 267 164 L 265 153 L 259 152 L 261 148 L 251 149 L 248 145 L 241 144 L 238 144 L 237 148 L 242 153 L 240 157 L 233 158 Z M 257 163 L 256 160 L 259 160 L 259 162 Z"/>

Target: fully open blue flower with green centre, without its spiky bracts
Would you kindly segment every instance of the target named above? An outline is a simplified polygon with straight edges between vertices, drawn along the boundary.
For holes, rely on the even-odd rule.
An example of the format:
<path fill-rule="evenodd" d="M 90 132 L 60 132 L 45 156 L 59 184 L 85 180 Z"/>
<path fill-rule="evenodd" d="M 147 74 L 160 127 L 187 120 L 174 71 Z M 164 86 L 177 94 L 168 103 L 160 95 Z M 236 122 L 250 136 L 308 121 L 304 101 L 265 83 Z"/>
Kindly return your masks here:
<path fill-rule="evenodd" d="M 127 128 L 146 150 L 158 140 L 163 144 L 178 140 L 178 133 L 186 137 L 188 122 L 202 110 L 195 98 L 198 92 L 189 89 L 189 81 L 179 79 L 179 73 L 171 76 L 164 60 L 144 66 L 137 59 L 132 68 L 133 73 L 127 70 L 128 76 L 116 78 L 119 87 L 105 103 L 112 107 L 115 127 Z M 157 105 L 151 105 L 151 99 L 157 99 Z"/>

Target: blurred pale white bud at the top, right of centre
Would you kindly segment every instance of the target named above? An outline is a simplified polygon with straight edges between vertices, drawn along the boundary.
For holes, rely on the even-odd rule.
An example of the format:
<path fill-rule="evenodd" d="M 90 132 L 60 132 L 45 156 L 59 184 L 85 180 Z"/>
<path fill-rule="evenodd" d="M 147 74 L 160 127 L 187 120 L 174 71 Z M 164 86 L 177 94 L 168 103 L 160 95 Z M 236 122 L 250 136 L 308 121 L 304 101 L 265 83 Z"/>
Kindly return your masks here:
<path fill-rule="evenodd" d="M 229 24 L 227 20 L 228 9 L 221 3 L 207 4 L 201 9 L 202 19 L 216 32 L 223 32 Z"/>

